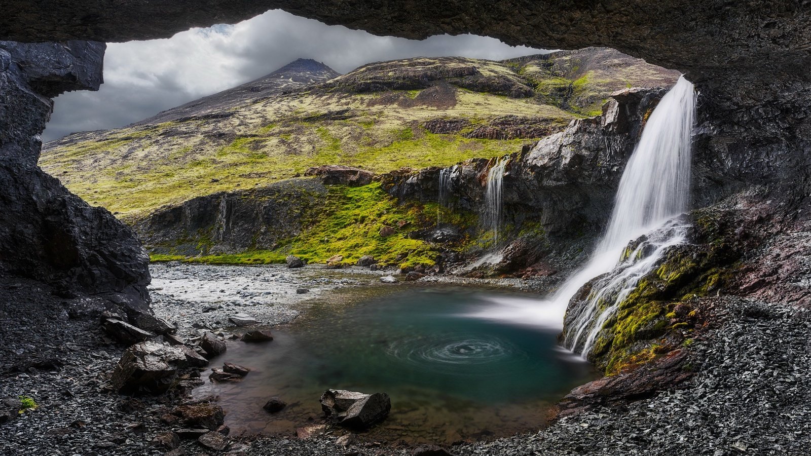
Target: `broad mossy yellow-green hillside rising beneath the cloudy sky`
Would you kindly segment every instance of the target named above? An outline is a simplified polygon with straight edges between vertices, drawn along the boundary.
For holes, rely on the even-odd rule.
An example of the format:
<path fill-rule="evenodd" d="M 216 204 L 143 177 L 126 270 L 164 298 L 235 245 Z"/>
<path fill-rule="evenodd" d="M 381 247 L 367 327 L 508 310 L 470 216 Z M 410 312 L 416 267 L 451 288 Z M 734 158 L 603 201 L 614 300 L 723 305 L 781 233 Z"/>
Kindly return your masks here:
<path fill-rule="evenodd" d="M 385 172 L 512 153 L 597 114 L 617 89 L 678 77 L 599 48 L 504 62 L 409 58 L 337 77 L 314 62 L 285 68 L 130 127 L 51 142 L 40 165 L 93 204 L 142 217 L 311 166 Z"/>

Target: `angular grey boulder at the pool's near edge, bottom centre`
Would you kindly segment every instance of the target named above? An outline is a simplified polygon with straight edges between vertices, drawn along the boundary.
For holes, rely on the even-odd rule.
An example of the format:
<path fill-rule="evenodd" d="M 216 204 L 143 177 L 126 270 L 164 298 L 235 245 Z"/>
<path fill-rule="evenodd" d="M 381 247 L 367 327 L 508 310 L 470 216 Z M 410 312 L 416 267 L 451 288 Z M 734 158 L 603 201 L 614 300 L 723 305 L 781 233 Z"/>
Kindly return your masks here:
<path fill-rule="evenodd" d="M 328 389 L 321 395 L 321 410 L 334 423 L 363 430 L 388 415 L 392 401 L 388 394 L 364 394 L 345 389 Z"/>

